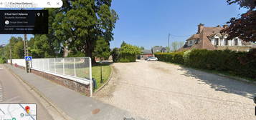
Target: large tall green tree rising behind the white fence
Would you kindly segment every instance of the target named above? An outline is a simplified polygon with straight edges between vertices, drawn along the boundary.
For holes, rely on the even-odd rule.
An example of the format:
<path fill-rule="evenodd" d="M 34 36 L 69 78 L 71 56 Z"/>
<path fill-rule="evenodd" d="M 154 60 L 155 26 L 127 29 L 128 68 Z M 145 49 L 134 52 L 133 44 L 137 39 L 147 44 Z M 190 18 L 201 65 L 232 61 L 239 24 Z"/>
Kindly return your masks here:
<path fill-rule="evenodd" d="M 93 52 L 98 38 L 110 44 L 118 14 L 110 9 L 111 0 L 80 0 L 69 3 L 70 9 L 59 12 L 55 17 L 55 34 L 59 39 L 65 40 L 64 46 L 72 51 L 84 52 L 95 63 Z"/>

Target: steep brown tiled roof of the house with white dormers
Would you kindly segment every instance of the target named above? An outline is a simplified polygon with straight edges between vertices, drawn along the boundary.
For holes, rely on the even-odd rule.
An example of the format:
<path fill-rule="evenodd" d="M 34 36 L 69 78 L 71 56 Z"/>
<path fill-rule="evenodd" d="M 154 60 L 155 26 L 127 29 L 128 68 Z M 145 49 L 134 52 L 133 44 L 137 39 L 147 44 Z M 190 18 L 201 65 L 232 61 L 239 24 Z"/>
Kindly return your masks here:
<path fill-rule="evenodd" d="M 214 50 L 216 49 L 215 46 L 212 45 L 211 41 L 209 40 L 209 36 L 212 36 L 213 34 L 218 34 L 222 29 L 224 29 L 221 26 L 217 27 L 204 27 L 202 29 L 202 32 L 199 34 L 194 34 L 191 37 L 189 37 L 188 40 L 190 39 L 199 39 L 199 42 L 197 44 L 194 44 L 193 46 L 183 46 L 181 49 L 178 51 L 186 51 L 188 49 L 208 49 L 208 50 Z"/>

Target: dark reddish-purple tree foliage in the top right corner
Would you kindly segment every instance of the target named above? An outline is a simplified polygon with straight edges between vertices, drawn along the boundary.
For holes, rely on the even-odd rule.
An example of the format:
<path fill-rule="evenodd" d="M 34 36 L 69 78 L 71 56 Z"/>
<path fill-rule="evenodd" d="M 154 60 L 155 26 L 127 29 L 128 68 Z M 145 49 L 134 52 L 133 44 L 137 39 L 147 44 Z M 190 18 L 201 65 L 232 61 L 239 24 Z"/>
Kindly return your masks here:
<path fill-rule="evenodd" d="M 227 39 L 239 37 L 244 41 L 256 41 L 256 0 L 227 0 L 228 4 L 238 4 L 240 8 L 248 9 L 240 18 L 231 18 L 227 24 L 229 27 L 222 33 L 229 34 Z"/>

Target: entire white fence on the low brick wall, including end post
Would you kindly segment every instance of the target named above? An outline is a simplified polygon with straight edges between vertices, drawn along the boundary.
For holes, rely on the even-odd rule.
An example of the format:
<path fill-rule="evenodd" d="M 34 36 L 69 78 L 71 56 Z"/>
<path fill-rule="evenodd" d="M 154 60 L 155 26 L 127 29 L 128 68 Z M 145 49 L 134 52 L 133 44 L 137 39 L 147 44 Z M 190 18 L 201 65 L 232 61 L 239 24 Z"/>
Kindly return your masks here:
<path fill-rule="evenodd" d="M 11 63 L 11 61 L 8 60 L 8 63 Z M 25 66 L 25 60 L 12 59 L 12 64 Z M 92 95 L 92 64 L 89 57 L 32 59 L 29 65 L 31 69 L 37 71 L 60 76 L 82 84 L 90 84 L 90 93 Z"/>

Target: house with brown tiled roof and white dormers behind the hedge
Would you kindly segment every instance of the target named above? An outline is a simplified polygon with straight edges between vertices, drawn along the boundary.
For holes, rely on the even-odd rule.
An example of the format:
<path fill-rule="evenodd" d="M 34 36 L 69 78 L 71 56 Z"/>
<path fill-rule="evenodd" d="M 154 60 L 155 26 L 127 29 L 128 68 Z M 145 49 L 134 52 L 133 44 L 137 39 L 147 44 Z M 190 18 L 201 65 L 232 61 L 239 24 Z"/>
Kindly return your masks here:
<path fill-rule="evenodd" d="M 243 41 L 238 37 L 227 39 L 227 34 L 220 33 L 226 27 L 228 26 L 206 27 L 204 24 L 199 24 L 197 33 L 190 36 L 186 40 L 186 44 L 178 51 L 186 51 L 188 49 L 249 51 L 252 49 L 252 43 Z"/>

